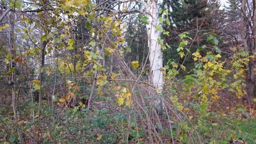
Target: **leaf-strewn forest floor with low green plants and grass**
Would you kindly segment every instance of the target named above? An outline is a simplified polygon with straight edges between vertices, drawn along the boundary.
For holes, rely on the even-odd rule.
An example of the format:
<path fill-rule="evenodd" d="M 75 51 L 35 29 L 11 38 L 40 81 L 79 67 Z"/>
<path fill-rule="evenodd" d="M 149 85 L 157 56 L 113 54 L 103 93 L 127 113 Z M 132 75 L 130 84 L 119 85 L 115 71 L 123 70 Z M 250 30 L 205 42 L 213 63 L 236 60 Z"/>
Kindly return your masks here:
<path fill-rule="evenodd" d="M 237 99 L 229 92 L 223 91 L 219 95 L 220 99 L 209 107 L 208 115 L 200 120 L 200 127 L 197 127 L 203 142 L 224 144 L 230 140 L 241 140 L 248 144 L 256 143 L 255 105 L 248 105 L 245 99 Z M 194 103 L 193 98 L 181 99 L 185 103 Z M 49 107 L 48 102 L 43 100 L 40 116 L 38 105 L 31 106 L 29 98 L 20 100 L 20 103 L 17 123 L 11 104 L 1 105 L 0 143 L 19 143 L 15 128 L 22 133 L 24 143 L 125 143 L 126 137 L 129 143 L 148 143 L 143 139 L 136 116 L 130 119 L 129 111 L 107 97 L 98 95 L 92 110 L 64 108 L 64 104 L 60 103 Z M 184 109 L 184 112 L 190 116 L 191 123 L 199 123 L 198 115 L 193 110 Z M 165 117 L 160 118 L 164 121 Z M 163 140 L 170 140 L 168 125 L 162 127 L 159 135 Z M 176 135 L 175 129 L 172 133 Z M 179 137 L 179 141 L 185 138 Z"/>

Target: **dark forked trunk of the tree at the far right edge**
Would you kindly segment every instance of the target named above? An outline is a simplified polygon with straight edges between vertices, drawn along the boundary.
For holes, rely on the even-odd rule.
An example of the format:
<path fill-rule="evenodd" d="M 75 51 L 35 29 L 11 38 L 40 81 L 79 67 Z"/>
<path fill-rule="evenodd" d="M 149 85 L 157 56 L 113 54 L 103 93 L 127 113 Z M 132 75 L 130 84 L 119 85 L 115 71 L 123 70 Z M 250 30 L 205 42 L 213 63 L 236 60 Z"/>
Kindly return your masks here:
<path fill-rule="evenodd" d="M 241 1 L 241 39 L 245 51 L 249 56 L 255 56 L 256 52 L 256 1 Z M 249 103 L 253 103 L 256 94 L 255 89 L 255 59 L 251 58 L 246 68 L 246 90 Z"/>

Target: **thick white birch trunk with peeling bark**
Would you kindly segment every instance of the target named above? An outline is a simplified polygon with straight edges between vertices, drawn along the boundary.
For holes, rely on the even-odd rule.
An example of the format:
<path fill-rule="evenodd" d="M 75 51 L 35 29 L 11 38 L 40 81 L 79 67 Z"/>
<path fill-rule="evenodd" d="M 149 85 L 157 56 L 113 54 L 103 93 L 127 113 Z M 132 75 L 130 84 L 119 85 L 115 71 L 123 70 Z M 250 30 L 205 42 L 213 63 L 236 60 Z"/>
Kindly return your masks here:
<path fill-rule="evenodd" d="M 149 0 L 147 2 L 146 13 L 148 17 L 147 34 L 149 46 L 149 82 L 152 84 L 158 93 L 162 91 L 162 53 L 161 46 L 158 43 L 160 32 L 156 30 L 159 25 L 158 21 L 158 1 Z"/>

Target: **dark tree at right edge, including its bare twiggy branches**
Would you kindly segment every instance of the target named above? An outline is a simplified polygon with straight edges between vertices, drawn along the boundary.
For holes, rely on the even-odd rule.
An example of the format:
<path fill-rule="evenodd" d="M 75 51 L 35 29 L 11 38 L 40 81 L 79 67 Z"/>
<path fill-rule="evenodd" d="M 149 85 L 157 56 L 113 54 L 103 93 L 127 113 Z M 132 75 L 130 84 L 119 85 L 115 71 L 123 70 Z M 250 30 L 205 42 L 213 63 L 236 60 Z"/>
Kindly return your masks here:
<path fill-rule="evenodd" d="M 245 68 L 245 83 L 248 102 L 253 103 L 256 94 L 255 88 L 255 43 L 256 43 L 256 8 L 255 1 L 237 1 L 230 0 L 226 16 L 230 19 L 225 20 L 224 33 L 232 36 L 235 47 L 242 47 L 245 55 L 248 57 L 248 63 L 243 63 Z M 227 39 L 227 38 L 226 38 Z"/>

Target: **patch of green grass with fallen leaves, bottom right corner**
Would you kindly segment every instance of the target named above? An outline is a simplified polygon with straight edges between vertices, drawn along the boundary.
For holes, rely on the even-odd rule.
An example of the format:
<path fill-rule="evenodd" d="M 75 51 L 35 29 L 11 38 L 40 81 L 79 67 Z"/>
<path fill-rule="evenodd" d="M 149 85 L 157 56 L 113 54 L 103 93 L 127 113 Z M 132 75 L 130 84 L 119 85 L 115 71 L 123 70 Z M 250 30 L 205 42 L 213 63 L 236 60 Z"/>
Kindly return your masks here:
<path fill-rule="evenodd" d="M 222 118 L 219 123 L 205 122 L 200 133 L 205 143 L 228 143 L 230 140 L 244 140 L 256 143 L 256 118 Z"/>

